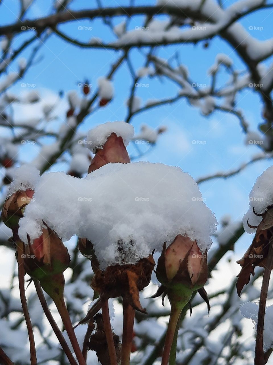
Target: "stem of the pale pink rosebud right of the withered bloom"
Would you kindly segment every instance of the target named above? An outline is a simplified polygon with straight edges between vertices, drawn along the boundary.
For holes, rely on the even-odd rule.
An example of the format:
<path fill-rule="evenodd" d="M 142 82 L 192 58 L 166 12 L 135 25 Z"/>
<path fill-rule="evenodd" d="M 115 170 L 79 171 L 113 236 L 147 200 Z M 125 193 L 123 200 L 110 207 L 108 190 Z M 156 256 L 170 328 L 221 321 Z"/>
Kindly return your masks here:
<path fill-rule="evenodd" d="M 168 324 L 168 328 L 167 328 L 167 334 L 166 334 L 166 338 L 165 338 L 161 365 L 168 365 L 171 347 L 175 346 L 175 351 L 176 351 L 176 343 L 174 345 L 173 339 L 174 339 L 175 329 L 176 329 L 177 322 L 178 322 L 179 316 L 181 314 L 181 311 L 182 311 L 182 308 L 171 304 L 171 313 L 170 313 L 170 319 L 169 319 L 169 324 Z"/>

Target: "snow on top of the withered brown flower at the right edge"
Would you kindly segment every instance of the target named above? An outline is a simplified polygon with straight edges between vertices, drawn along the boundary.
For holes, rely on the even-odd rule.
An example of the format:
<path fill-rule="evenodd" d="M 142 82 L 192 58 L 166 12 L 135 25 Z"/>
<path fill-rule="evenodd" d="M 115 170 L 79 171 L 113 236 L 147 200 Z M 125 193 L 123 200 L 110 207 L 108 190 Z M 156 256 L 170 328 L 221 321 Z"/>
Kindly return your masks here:
<path fill-rule="evenodd" d="M 252 190 L 249 193 L 249 210 L 243 218 L 244 229 L 247 233 L 253 233 L 255 230 L 247 224 L 257 226 L 261 223 L 262 217 L 257 216 L 253 212 L 253 208 L 257 214 L 265 212 L 269 205 L 273 204 L 273 166 L 266 169 L 256 180 Z"/>

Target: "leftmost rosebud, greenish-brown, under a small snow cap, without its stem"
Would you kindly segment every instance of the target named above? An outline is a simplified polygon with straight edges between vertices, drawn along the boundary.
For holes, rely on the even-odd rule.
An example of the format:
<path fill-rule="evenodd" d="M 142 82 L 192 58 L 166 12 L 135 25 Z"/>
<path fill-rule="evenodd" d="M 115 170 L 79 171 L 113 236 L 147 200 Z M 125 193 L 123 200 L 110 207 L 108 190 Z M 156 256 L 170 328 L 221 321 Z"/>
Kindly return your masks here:
<path fill-rule="evenodd" d="M 23 217 L 24 207 L 30 203 L 34 190 L 16 191 L 5 201 L 2 209 L 2 219 L 11 229 L 18 228 L 19 219 Z"/>

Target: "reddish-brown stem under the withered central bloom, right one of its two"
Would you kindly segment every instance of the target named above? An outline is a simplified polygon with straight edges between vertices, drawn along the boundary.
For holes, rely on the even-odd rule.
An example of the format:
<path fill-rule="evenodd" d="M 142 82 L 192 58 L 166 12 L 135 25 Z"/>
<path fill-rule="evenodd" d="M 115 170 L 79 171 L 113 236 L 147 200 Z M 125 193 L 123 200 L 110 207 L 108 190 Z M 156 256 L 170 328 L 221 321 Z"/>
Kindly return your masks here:
<path fill-rule="evenodd" d="M 134 331 L 135 310 L 123 297 L 123 331 L 121 347 L 121 365 L 130 364 L 132 337 Z"/>

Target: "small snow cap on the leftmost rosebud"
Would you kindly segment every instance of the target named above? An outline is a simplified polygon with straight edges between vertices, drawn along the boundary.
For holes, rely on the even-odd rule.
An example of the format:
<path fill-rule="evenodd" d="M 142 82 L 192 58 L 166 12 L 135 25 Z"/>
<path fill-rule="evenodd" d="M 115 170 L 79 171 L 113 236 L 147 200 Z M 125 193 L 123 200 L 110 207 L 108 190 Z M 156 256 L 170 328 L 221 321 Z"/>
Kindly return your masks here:
<path fill-rule="evenodd" d="M 22 165 L 13 170 L 12 183 L 8 189 L 8 196 L 18 190 L 33 189 L 39 180 L 39 170 L 32 165 Z"/>

